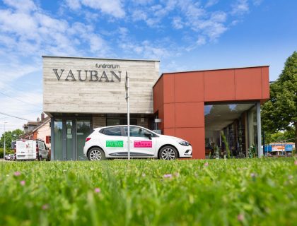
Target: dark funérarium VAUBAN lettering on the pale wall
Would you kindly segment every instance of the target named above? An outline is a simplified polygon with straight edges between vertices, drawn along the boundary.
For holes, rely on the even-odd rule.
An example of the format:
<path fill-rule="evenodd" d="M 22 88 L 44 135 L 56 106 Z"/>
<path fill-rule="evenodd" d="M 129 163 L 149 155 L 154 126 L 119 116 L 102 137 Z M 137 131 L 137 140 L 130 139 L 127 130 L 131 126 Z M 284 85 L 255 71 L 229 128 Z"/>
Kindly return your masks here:
<path fill-rule="evenodd" d="M 58 81 L 90 81 L 90 82 L 120 82 L 122 71 L 115 71 L 114 69 L 120 69 L 118 64 L 95 64 L 98 69 L 96 70 L 65 70 L 65 69 L 52 69 L 56 75 Z"/>

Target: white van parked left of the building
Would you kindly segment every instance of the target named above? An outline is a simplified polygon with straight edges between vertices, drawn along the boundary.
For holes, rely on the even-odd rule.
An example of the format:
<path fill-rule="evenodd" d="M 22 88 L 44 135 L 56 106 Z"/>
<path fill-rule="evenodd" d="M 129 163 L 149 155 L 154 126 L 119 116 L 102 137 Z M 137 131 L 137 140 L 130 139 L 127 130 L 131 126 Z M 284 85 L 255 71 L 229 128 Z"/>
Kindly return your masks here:
<path fill-rule="evenodd" d="M 16 141 L 16 160 L 50 160 L 50 151 L 42 140 Z"/>

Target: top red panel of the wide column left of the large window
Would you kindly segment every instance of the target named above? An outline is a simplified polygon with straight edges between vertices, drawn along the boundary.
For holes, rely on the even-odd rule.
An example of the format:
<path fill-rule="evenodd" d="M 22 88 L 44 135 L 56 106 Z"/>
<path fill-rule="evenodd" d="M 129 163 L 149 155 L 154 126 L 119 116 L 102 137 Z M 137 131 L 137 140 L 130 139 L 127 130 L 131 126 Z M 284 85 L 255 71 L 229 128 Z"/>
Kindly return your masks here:
<path fill-rule="evenodd" d="M 204 72 L 175 73 L 175 102 L 204 101 Z"/>

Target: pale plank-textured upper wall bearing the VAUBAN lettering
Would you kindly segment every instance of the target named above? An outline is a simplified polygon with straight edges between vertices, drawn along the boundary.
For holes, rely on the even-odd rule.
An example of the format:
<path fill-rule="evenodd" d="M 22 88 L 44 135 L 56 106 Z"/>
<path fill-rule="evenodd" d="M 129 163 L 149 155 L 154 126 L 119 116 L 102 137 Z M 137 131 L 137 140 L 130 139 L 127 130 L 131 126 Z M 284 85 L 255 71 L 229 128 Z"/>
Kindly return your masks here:
<path fill-rule="evenodd" d="M 111 71 L 121 74 L 120 81 Z M 130 112 L 153 113 L 152 87 L 159 76 L 159 61 L 74 57 L 43 57 L 44 112 L 126 113 L 126 71 Z"/>

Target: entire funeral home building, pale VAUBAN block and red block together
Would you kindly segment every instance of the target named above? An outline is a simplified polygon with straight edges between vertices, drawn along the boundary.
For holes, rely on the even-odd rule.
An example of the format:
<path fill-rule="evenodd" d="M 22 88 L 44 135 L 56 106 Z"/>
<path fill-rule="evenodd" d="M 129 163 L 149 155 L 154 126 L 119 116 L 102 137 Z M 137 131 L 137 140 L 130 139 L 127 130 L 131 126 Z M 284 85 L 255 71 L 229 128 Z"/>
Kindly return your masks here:
<path fill-rule="evenodd" d="M 131 124 L 190 141 L 194 158 L 228 143 L 233 156 L 261 153 L 260 104 L 269 99 L 269 68 L 163 73 L 159 61 L 43 57 L 43 107 L 51 117 L 52 160 L 84 160 L 85 138 L 100 126 Z M 224 136 L 221 136 L 223 133 Z M 226 137 L 226 141 L 223 138 Z"/>

